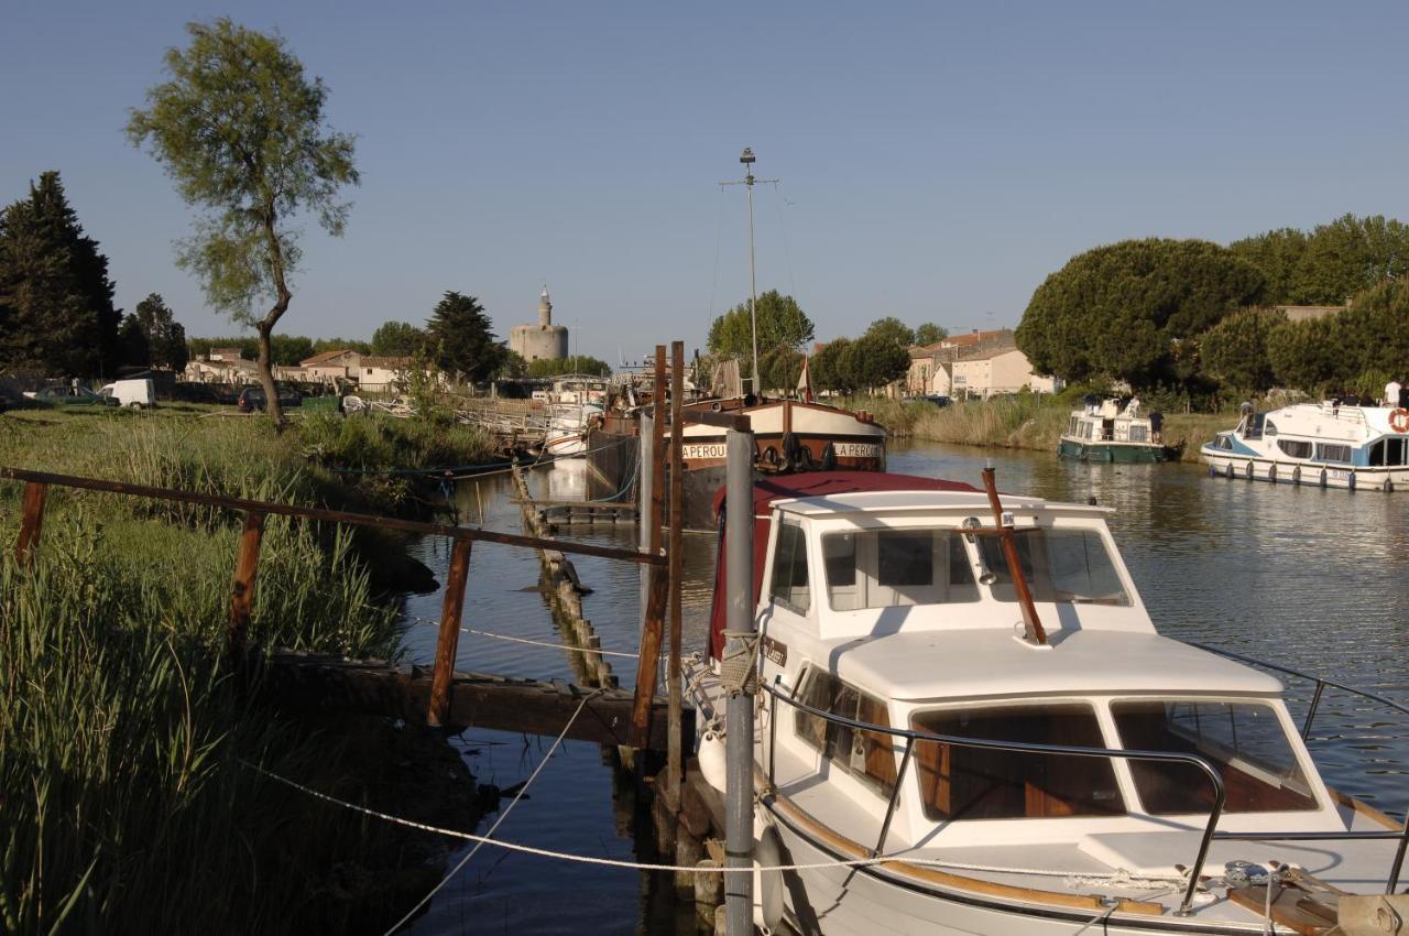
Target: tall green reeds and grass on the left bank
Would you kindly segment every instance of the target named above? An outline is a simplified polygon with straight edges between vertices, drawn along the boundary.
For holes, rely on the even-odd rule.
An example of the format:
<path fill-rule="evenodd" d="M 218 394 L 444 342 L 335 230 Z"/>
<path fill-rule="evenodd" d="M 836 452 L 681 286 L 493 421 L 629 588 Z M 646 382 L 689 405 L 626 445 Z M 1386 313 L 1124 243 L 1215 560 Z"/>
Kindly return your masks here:
<path fill-rule="evenodd" d="M 3 465 L 364 505 L 366 491 L 328 471 L 337 455 L 310 451 L 328 441 L 344 444 L 342 429 L 313 420 L 278 434 L 259 417 L 0 416 Z M 403 451 L 387 441 L 368 462 Z M 410 451 L 438 455 L 428 440 Z M 471 780 L 434 736 L 287 719 L 237 691 L 218 650 L 238 516 L 51 489 L 37 562 L 21 569 L 18 493 L 0 482 L 0 932 L 382 932 L 434 884 L 441 843 L 426 833 L 249 767 L 473 822 Z M 347 531 L 269 519 L 251 640 L 392 657 L 396 619 Z"/>

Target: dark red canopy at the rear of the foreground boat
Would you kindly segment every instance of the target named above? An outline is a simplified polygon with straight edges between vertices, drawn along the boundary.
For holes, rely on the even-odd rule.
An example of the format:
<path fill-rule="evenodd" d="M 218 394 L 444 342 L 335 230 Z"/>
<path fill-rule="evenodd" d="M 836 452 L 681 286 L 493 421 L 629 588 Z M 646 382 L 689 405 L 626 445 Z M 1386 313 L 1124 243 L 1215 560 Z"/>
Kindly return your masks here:
<path fill-rule="evenodd" d="M 921 478 L 919 475 L 892 475 L 882 471 L 805 471 L 796 475 L 771 475 L 754 484 L 754 603 L 764 588 L 764 560 L 768 555 L 768 527 L 772 523 L 774 500 L 793 498 L 823 498 L 837 493 L 858 493 L 865 491 L 971 491 L 978 488 L 962 481 L 943 478 Z M 720 488 L 714 495 L 714 516 L 719 519 L 719 551 L 714 558 L 714 599 L 710 605 L 709 648 L 716 660 L 724 653 L 724 495 Z"/>

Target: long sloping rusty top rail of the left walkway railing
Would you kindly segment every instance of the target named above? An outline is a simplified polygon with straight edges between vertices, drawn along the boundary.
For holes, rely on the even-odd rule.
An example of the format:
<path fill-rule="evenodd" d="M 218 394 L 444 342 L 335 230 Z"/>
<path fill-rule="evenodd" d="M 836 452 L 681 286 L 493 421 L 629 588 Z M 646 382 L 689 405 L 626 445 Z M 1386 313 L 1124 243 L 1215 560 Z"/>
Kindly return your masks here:
<path fill-rule="evenodd" d="M 224 495 L 193 493 L 190 491 L 173 491 L 170 488 L 151 488 L 148 485 L 131 485 L 120 481 L 101 481 L 99 478 L 77 478 L 75 475 L 55 475 L 46 471 L 30 471 L 27 468 L 0 468 L 0 478 L 14 481 L 32 481 L 37 484 L 80 488 L 83 491 L 103 491 L 107 493 L 124 493 L 137 498 L 152 498 L 155 500 L 175 500 L 178 503 L 196 503 L 207 507 L 224 507 L 227 510 L 249 512 L 303 517 L 306 520 L 324 520 L 327 523 L 352 523 L 355 526 L 373 526 L 385 530 L 403 530 L 421 536 L 445 536 L 452 540 L 482 540 L 485 543 L 503 543 L 506 546 L 527 546 L 533 548 L 554 548 L 564 553 L 581 553 L 582 555 L 599 555 L 623 562 L 638 562 L 641 565 L 665 565 L 665 557 L 647 554 L 637 550 L 623 550 L 593 543 L 571 543 L 566 540 L 547 540 L 542 537 L 520 536 L 516 533 L 497 533 L 495 530 L 479 530 L 475 527 L 451 526 L 447 523 L 423 523 L 420 520 L 403 520 L 400 517 L 383 517 L 372 513 L 354 513 L 351 510 L 328 510 L 324 507 L 300 507 L 292 503 L 273 503 L 268 500 L 249 500 L 248 498 L 227 498 Z"/>

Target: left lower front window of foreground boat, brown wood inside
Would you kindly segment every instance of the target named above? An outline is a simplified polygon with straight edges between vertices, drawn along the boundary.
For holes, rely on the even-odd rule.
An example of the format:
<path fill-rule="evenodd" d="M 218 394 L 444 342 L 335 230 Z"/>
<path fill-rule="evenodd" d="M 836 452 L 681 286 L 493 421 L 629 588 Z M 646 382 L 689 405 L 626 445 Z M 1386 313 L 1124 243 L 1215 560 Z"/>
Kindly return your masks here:
<path fill-rule="evenodd" d="M 914 729 L 975 740 L 1106 747 L 1086 705 L 923 712 Z M 930 819 L 1053 819 L 1126 812 L 1105 757 L 1037 754 L 916 741 L 920 801 Z"/>

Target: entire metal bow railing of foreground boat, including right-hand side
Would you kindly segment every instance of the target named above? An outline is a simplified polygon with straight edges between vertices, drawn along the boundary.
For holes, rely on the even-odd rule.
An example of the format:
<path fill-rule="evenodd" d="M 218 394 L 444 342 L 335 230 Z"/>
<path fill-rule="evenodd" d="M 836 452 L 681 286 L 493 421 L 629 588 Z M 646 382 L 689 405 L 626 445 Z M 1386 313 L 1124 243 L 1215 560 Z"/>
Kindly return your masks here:
<path fill-rule="evenodd" d="M 1199 646 L 1199 644 L 1195 644 Z M 1212 648 L 1210 648 L 1212 650 Z M 1213 650 L 1213 653 L 1219 653 Z M 1267 664 L 1271 665 L 1271 664 Z M 1274 667 L 1275 668 L 1275 667 Z M 1292 672 L 1292 671 L 1286 671 Z M 1298 674 L 1302 675 L 1302 674 Z M 1308 677 L 1312 678 L 1312 677 Z M 1350 692 L 1357 692 L 1360 695 L 1368 694 L 1360 692 L 1357 689 L 1350 689 L 1348 686 L 1340 686 L 1340 684 L 1324 681 L 1326 685 L 1334 685 L 1336 688 L 1347 688 Z M 850 719 L 844 715 L 837 715 L 836 712 L 827 712 L 826 709 L 819 709 L 814 705 L 809 705 L 797 698 L 797 688 L 789 688 L 782 682 L 782 677 L 776 677 L 772 684 L 761 682 L 764 691 L 768 692 L 768 785 L 771 788 L 776 787 L 774 777 L 774 760 L 778 740 L 778 702 L 790 705 L 800 712 L 806 712 L 814 718 L 820 718 L 826 722 L 841 725 L 857 732 L 869 732 L 874 734 L 886 734 L 890 737 L 898 737 L 905 740 L 905 754 L 900 757 L 900 768 L 896 771 L 895 785 L 890 789 L 890 799 L 886 803 L 885 819 L 881 823 L 881 835 L 876 839 L 876 844 L 871 849 L 871 857 L 878 857 L 885 849 L 886 836 L 890 832 L 890 822 L 895 818 L 896 806 L 900 802 L 900 787 L 905 782 L 905 775 L 910 767 L 910 761 L 914 754 L 916 741 L 936 741 L 940 744 L 951 744 L 954 747 L 971 747 L 979 750 L 993 750 L 993 751 L 1009 751 L 1014 754 L 1055 754 L 1058 757 L 1113 757 L 1127 761 L 1154 761 L 1167 764 L 1189 764 L 1198 767 L 1203 771 L 1205 777 L 1209 778 L 1209 784 L 1213 787 L 1213 806 L 1209 811 L 1209 819 L 1203 826 L 1203 833 L 1199 836 L 1198 854 L 1193 858 L 1193 864 L 1188 868 L 1189 881 L 1184 891 L 1184 898 L 1179 902 L 1179 908 L 1175 911 L 1177 916 L 1188 916 L 1193 908 L 1193 898 L 1198 894 L 1199 877 L 1203 873 L 1203 864 L 1209 857 L 1209 847 L 1213 844 L 1215 839 L 1219 840 L 1233 840 L 1233 842 L 1346 842 L 1346 840 L 1396 840 L 1399 847 L 1395 851 L 1394 863 L 1389 868 L 1388 881 L 1385 884 L 1385 892 L 1394 894 L 1395 887 L 1399 884 L 1399 871 L 1403 866 L 1405 850 L 1409 846 L 1409 818 L 1405 820 L 1402 830 L 1384 830 L 1384 832 L 1219 832 L 1219 819 L 1223 815 L 1223 808 L 1227 803 L 1227 789 L 1223 784 L 1223 777 L 1219 774 L 1217 768 L 1209 763 L 1208 758 L 1199 757 L 1198 754 L 1185 754 L 1181 751 L 1157 751 L 1157 750 L 1138 750 L 1138 749 L 1116 749 L 1116 747 L 1085 747 L 1079 744 L 1040 744 L 1036 741 L 1003 741 L 995 739 L 976 739 L 976 737 L 962 737 L 957 734 L 938 734 L 934 732 L 920 732 L 916 729 L 906 727 L 890 727 L 888 725 L 871 725 L 869 722 L 859 722 L 857 719 Z M 1388 702 L 1388 699 L 1381 699 Z M 1389 702 L 1389 705 L 1398 710 L 1406 710 L 1398 703 Z"/>

